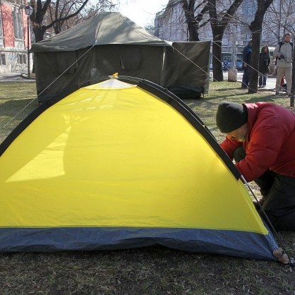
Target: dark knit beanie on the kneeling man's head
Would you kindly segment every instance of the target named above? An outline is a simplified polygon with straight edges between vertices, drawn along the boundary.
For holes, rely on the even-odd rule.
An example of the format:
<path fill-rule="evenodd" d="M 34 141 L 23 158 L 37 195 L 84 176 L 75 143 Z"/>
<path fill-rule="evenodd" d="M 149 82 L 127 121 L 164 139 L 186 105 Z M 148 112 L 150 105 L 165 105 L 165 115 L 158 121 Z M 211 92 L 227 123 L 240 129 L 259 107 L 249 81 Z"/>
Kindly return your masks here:
<path fill-rule="evenodd" d="M 248 121 L 245 105 L 236 102 L 222 102 L 216 113 L 216 125 L 222 133 L 234 131 Z"/>

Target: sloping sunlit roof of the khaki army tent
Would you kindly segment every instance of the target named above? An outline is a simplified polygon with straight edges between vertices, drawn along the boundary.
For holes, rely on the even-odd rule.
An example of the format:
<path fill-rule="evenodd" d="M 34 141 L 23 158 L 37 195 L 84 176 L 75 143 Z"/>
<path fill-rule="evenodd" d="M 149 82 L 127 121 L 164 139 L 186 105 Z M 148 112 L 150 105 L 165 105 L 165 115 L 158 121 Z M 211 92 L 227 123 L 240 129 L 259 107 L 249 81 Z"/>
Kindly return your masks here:
<path fill-rule="evenodd" d="M 32 52 L 75 51 L 92 45 L 142 44 L 167 46 L 132 20 L 115 12 L 101 12 L 73 28 L 32 44 Z"/>

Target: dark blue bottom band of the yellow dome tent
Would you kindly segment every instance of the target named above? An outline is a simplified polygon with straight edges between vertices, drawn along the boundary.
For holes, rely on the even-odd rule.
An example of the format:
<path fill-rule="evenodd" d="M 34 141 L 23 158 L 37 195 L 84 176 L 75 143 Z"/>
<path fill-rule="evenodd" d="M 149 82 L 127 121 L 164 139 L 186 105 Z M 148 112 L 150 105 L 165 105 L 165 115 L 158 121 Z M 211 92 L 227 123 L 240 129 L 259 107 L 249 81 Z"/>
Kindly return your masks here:
<path fill-rule="evenodd" d="M 0 252 L 102 251 L 167 246 L 194 253 L 275 260 L 272 235 L 246 231 L 167 228 L 1 228 Z"/>

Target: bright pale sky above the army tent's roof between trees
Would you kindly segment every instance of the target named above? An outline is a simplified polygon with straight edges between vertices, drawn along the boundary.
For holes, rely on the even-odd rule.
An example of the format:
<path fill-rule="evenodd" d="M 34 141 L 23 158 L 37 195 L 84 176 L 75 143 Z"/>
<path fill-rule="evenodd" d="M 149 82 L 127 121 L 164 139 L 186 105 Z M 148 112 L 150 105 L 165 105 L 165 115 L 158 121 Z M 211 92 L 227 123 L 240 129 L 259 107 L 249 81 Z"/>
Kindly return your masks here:
<path fill-rule="evenodd" d="M 118 11 L 141 27 L 153 24 L 157 12 L 162 11 L 169 0 L 121 0 Z"/>

